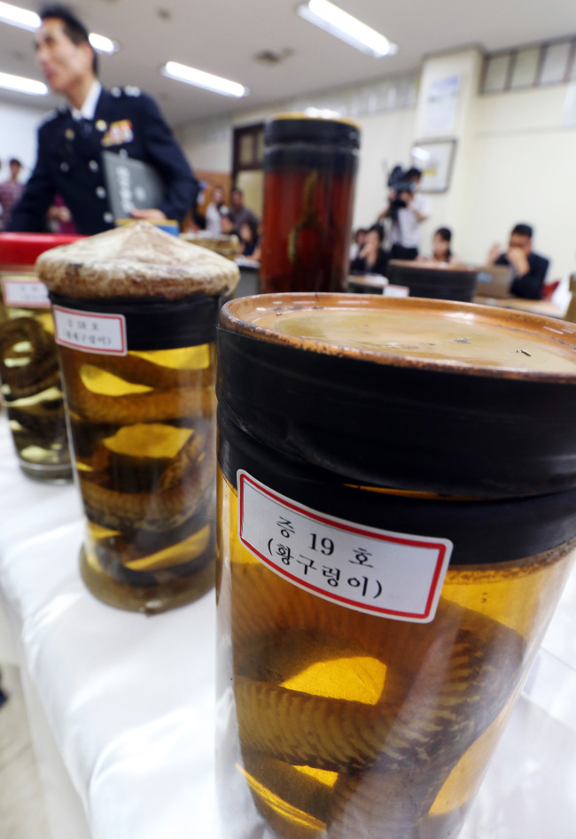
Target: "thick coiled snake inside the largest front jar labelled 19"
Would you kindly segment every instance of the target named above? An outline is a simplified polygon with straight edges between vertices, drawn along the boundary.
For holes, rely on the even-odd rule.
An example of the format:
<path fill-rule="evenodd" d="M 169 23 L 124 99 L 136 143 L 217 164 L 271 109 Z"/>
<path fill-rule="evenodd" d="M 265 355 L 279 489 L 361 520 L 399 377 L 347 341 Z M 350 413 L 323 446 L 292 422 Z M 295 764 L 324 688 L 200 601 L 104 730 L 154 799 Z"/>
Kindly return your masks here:
<path fill-rule="evenodd" d="M 269 825 L 283 839 L 445 835 L 430 827 L 432 804 L 463 753 L 508 703 L 513 687 L 502 674 L 518 672 L 522 637 L 444 598 L 431 624 L 373 618 L 234 558 L 232 594 L 222 588 L 220 596 L 231 598 L 245 771 L 317 820 L 315 829 L 303 827 L 269 796 L 256 795 Z M 318 649 L 323 660 L 373 656 L 385 664 L 378 701 L 284 687 L 317 663 Z M 326 789 L 296 766 L 337 773 L 337 780 Z"/>

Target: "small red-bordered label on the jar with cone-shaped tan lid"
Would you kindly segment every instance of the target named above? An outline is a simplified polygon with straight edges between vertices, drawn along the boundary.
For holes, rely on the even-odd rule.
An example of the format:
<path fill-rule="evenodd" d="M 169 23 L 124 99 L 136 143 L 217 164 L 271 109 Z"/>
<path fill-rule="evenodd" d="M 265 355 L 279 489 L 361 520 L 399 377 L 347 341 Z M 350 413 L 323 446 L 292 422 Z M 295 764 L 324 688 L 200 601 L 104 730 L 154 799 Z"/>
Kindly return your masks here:
<path fill-rule="evenodd" d="M 101 355 L 126 355 L 126 318 L 124 315 L 97 315 L 53 306 L 56 343 L 74 350 Z"/>

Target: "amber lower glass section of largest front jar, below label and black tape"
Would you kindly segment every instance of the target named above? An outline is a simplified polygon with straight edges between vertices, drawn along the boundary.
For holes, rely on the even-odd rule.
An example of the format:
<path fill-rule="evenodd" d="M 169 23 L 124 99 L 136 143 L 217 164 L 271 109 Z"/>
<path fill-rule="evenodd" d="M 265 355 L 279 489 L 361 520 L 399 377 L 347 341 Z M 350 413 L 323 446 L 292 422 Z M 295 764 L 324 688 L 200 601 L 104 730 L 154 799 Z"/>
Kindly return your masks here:
<path fill-rule="evenodd" d="M 576 541 L 450 567 L 432 623 L 415 624 L 269 571 L 238 540 L 237 493 L 222 473 L 218 493 L 223 835 L 457 835 Z"/>

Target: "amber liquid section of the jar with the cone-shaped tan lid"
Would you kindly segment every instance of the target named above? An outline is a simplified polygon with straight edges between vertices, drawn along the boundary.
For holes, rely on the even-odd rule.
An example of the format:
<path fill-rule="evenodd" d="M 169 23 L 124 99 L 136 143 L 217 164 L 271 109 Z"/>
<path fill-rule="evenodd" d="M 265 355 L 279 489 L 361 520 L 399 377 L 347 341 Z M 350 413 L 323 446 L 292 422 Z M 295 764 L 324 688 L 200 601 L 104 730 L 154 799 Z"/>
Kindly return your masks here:
<path fill-rule="evenodd" d="M 146 613 L 214 585 L 214 345 L 60 347 L 93 594 Z"/>

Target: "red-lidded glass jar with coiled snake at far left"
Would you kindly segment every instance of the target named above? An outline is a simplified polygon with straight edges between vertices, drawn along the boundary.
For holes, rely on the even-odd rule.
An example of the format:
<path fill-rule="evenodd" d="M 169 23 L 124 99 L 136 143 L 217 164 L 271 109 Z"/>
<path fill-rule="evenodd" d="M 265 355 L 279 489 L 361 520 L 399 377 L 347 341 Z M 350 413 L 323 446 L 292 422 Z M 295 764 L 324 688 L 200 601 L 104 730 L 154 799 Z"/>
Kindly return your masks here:
<path fill-rule="evenodd" d="M 0 381 L 12 439 L 28 478 L 72 478 L 54 324 L 37 257 L 78 236 L 0 234 Z"/>

